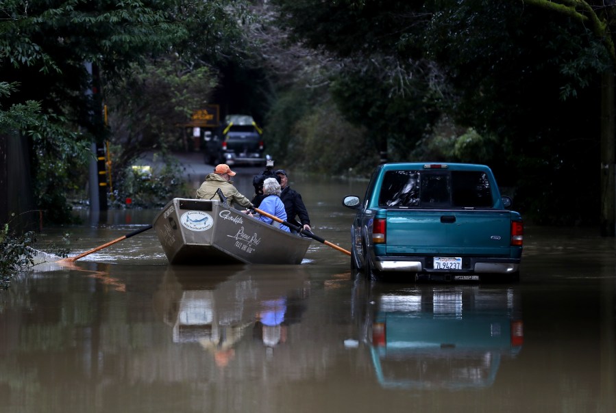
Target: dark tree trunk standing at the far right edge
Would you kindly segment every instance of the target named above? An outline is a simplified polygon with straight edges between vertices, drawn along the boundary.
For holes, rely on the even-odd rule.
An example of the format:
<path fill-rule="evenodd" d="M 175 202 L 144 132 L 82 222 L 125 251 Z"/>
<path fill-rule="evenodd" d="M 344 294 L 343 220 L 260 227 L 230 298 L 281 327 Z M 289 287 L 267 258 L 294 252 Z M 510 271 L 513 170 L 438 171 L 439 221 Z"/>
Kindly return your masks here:
<path fill-rule="evenodd" d="M 601 88 L 601 235 L 614 237 L 615 209 L 615 124 L 614 72 L 604 72 Z"/>

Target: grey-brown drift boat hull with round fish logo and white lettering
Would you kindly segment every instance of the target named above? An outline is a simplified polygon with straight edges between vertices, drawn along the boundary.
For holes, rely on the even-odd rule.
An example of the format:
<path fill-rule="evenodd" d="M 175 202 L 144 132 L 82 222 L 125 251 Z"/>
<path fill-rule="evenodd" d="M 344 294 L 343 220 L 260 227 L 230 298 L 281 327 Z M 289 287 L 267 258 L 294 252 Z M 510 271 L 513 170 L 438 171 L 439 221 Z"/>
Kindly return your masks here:
<path fill-rule="evenodd" d="M 153 227 L 172 264 L 299 264 L 311 241 L 218 200 L 175 198 Z"/>

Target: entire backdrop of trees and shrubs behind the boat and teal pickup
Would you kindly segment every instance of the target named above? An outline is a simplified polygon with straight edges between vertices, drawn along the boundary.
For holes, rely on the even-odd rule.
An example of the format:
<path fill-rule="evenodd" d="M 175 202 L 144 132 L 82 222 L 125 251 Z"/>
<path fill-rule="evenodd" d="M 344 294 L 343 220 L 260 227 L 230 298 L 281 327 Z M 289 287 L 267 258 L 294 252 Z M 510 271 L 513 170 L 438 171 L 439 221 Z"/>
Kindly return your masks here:
<path fill-rule="evenodd" d="M 181 125 L 220 103 L 254 116 L 278 165 L 486 163 L 525 219 L 613 235 L 612 2 L 5 0 L 0 15 L 0 142 L 23 142 L 45 224 L 87 198 L 93 142 L 110 145 L 112 207 L 173 196 L 177 165 L 132 166 L 186 150 Z"/>

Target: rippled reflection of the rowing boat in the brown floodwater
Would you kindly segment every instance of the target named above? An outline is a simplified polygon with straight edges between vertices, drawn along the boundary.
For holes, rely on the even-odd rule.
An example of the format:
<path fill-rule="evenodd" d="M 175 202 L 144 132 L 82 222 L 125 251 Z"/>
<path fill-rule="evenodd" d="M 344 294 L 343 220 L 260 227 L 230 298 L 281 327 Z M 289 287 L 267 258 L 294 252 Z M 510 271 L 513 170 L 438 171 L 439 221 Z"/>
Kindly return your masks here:
<path fill-rule="evenodd" d="M 271 331 L 260 315 L 271 310 L 272 302 L 285 303 L 281 321 L 297 322 L 308 276 L 297 267 L 289 268 L 288 276 L 284 270 L 269 265 L 219 266 L 208 267 L 205 275 L 203 268 L 169 267 L 155 295 L 155 307 L 173 328 L 174 343 L 199 343 L 227 362 L 232 347 L 249 328 L 263 324 L 265 332 Z M 271 338 L 262 337 L 266 345 L 267 340 Z"/>

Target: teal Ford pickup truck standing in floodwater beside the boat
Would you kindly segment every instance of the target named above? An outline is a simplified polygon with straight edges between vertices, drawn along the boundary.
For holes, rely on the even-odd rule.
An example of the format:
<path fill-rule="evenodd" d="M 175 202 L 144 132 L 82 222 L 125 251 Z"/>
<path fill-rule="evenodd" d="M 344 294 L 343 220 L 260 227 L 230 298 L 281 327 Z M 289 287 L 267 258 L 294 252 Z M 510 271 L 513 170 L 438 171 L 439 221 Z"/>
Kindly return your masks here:
<path fill-rule="evenodd" d="M 519 280 L 523 222 L 486 165 L 384 163 L 373 172 L 351 228 L 352 268 L 372 278 Z"/>

